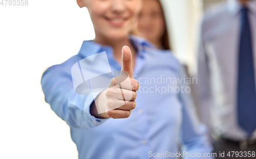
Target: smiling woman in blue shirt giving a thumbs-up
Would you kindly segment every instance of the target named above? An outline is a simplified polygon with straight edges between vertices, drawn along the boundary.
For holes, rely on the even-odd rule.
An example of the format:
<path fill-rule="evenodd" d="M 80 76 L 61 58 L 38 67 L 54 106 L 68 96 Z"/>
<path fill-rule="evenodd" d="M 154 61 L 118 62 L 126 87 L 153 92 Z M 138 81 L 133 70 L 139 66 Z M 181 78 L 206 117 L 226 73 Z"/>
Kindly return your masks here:
<path fill-rule="evenodd" d="M 137 91 L 140 87 L 137 79 L 184 77 L 181 64 L 172 54 L 129 35 L 137 23 L 142 0 L 77 0 L 77 3 L 88 8 L 95 39 L 83 41 L 78 55 L 50 67 L 42 75 L 41 85 L 46 102 L 70 125 L 79 158 L 146 158 L 149 151 L 178 153 L 179 139 L 189 153 L 210 152 L 206 129 L 196 117 L 189 94 L 162 93 L 159 88 L 166 87 L 166 83 L 161 82 L 141 83 L 142 90 L 157 88 L 154 94 Z M 99 53 L 108 60 L 99 58 Z M 82 61 L 87 62 L 85 69 L 78 64 Z M 103 75 L 104 70 L 112 71 L 113 78 L 107 81 L 108 88 L 97 94 L 76 94 L 71 71 L 74 65 L 81 81 Z M 120 70 L 129 75 L 121 83 L 117 81 L 123 75 L 114 74 Z M 88 83 L 92 88 L 92 83 Z M 179 86 L 182 85 L 169 85 Z M 98 108 L 104 111 L 98 113 Z"/>

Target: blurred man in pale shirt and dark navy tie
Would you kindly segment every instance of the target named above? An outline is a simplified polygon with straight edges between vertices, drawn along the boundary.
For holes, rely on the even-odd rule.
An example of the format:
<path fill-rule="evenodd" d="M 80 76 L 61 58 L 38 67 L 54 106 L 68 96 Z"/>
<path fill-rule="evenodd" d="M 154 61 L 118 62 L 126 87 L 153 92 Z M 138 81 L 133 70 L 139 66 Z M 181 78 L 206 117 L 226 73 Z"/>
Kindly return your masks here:
<path fill-rule="evenodd" d="M 255 157 L 255 75 L 256 1 L 228 0 L 205 14 L 198 52 L 199 114 L 217 158 Z"/>

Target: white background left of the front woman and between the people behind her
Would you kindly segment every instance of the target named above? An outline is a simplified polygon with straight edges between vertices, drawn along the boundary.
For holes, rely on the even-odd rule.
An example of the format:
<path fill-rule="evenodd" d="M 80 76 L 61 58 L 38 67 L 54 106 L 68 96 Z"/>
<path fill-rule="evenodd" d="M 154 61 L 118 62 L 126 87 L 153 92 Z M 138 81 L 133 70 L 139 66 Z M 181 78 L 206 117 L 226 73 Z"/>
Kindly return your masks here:
<path fill-rule="evenodd" d="M 174 53 L 193 76 L 200 18 L 222 1 L 166 1 Z M 40 79 L 94 39 L 92 22 L 74 0 L 28 2 L 0 5 L 0 158 L 77 158 L 69 126 L 45 102 Z"/>

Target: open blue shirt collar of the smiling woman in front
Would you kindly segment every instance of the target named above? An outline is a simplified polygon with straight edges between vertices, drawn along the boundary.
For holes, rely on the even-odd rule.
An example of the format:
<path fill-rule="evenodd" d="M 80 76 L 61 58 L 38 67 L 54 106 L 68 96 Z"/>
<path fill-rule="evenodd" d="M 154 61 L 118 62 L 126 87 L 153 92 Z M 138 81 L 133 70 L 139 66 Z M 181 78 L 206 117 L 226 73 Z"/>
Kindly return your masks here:
<path fill-rule="evenodd" d="M 135 35 L 130 35 L 129 36 L 130 40 L 133 43 L 133 46 L 135 47 L 137 53 L 139 54 L 139 56 L 144 56 L 143 54 L 145 53 L 145 48 L 156 48 L 156 46 L 147 41 L 144 38 L 135 36 Z M 106 51 L 106 54 L 111 54 L 111 56 L 113 56 L 113 49 L 110 46 L 103 46 L 97 42 L 94 42 L 92 40 L 89 41 L 83 41 L 81 49 L 79 51 L 79 55 L 82 56 L 83 58 L 86 58 L 88 56 L 100 53 Z"/>

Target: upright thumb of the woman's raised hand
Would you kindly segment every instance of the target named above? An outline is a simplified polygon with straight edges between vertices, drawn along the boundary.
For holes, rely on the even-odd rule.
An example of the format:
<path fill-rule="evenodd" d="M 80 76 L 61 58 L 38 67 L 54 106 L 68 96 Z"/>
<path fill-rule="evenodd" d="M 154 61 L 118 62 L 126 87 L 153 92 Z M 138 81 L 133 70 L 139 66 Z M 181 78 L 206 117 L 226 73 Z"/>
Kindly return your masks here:
<path fill-rule="evenodd" d="M 132 67 L 132 52 L 127 46 L 122 48 L 122 69 L 121 71 L 126 71 L 129 73 L 130 78 L 133 78 L 133 67 Z"/>

